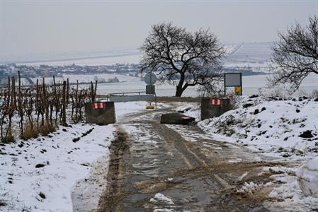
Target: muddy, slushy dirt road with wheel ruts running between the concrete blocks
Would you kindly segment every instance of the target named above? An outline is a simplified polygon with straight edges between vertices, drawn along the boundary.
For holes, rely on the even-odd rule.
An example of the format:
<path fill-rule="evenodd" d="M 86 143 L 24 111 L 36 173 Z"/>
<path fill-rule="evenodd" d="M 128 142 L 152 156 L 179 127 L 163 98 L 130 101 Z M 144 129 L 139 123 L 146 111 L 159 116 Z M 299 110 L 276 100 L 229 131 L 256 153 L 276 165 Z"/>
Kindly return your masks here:
<path fill-rule="evenodd" d="M 126 115 L 115 126 L 98 211 L 266 211 L 271 187 L 262 185 L 271 179 L 259 173 L 279 162 L 194 124 L 159 124 L 163 112 Z"/>

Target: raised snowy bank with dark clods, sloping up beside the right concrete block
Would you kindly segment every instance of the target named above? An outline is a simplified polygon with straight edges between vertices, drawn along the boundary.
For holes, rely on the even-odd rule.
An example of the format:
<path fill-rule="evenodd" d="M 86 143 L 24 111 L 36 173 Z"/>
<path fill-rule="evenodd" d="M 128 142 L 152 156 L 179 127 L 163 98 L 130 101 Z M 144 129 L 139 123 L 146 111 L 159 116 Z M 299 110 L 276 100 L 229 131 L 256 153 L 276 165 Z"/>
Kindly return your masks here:
<path fill-rule="evenodd" d="M 199 122 L 199 126 L 266 155 L 283 158 L 318 155 L 317 101 L 245 97 L 237 105 L 236 110 Z"/>

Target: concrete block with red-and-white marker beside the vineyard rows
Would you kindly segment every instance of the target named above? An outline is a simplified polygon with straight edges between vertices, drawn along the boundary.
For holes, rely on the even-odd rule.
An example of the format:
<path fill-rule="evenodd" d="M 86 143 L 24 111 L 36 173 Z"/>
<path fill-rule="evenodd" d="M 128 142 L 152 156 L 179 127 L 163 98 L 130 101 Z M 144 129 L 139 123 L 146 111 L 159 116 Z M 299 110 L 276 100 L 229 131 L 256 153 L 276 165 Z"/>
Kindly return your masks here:
<path fill-rule="evenodd" d="M 85 104 L 86 123 L 114 124 L 116 122 L 114 102 L 88 102 Z"/>

